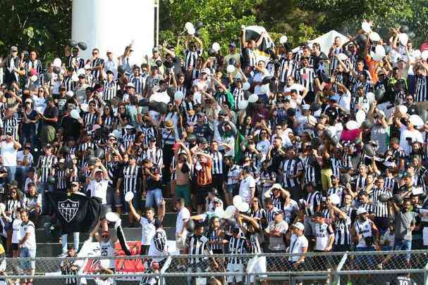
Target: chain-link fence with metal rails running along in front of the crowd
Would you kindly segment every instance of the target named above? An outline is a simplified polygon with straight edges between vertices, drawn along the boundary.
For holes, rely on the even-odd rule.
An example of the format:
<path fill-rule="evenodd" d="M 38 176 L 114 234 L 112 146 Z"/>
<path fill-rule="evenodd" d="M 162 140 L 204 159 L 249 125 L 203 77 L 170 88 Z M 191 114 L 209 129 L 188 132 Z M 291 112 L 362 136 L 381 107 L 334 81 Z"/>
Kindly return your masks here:
<path fill-rule="evenodd" d="M 90 258 L 5 258 L 6 277 L 34 279 L 34 284 L 66 284 L 75 279 L 85 284 L 87 279 L 103 279 L 138 284 L 141 279 L 154 278 L 158 284 L 224 284 L 243 281 L 259 284 L 261 281 L 288 281 L 288 284 L 317 281 L 322 284 L 386 284 L 397 274 L 410 274 L 416 284 L 428 285 L 428 251 L 376 251 L 347 253 L 307 253 L 301 265 L 300 255 L 261 253 L 257 255 L 161 255 L 116 256 Z M 114 260 L 114 263 L 109 263 Z M 159 261 L 161 270 L 147 274 L 151 260 Z M 25 274 L 28 262 L 35 262 L 35 275 Z M 78 273 L 63 275 L 60 265 L 78 265 Z M 381 264 L 381 266 L 380 266 Z M 114 274 L 94 274 L 100 266 L 114 266 Z M 1 277 L 0 277 L 1 279 Z M 216 281 L 215 281 L 216 280 Z M 216 283 L 217 282 L 217 283 Z"/>

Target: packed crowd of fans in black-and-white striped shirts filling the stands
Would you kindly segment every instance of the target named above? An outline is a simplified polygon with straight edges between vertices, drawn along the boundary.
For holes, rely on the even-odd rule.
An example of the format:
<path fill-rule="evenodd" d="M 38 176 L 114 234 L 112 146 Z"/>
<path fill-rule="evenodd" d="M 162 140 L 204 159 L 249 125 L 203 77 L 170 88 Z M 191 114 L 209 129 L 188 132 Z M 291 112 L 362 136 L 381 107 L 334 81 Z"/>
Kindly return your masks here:
<path fill-rule="evenodd" d="M 44 191 L 128 215 L 145 255 L 165 253 L 164 198 L 176 201 L 176 245 L 190 255 L 299 253 L 274 269 L 302 270 L 311 251 L 428 248 L 428 63 L 405 32 L 361 30 L 324 53 L 285 41 L 261 51 L 269 34 L 247 39 L 243 27 L 226 52 L 189 34 L 183 52 L 165 43 L 135 63 L 132 45 L 82 58 L 71 41 L 49 63 L 11 46 L 0 63 L 6 254 L 35 256 L 35 227 L 52 213 Z M 66 240 L 74 255 L 79 233 L 73 248 Z M 240 258 L 218 261 L 204 264 L 245 270 Z"/>

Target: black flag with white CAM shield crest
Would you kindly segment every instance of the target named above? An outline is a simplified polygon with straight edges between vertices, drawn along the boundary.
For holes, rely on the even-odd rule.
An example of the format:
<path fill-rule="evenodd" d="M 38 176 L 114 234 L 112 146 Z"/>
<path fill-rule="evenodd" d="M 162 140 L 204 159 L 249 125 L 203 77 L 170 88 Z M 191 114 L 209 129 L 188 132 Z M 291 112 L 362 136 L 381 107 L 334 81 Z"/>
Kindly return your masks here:
<path fill-rule="evenodd" d="M 85 195 L 46 191 L 63 233 L 92 232 L 101 216 L 101 204 Z"/>

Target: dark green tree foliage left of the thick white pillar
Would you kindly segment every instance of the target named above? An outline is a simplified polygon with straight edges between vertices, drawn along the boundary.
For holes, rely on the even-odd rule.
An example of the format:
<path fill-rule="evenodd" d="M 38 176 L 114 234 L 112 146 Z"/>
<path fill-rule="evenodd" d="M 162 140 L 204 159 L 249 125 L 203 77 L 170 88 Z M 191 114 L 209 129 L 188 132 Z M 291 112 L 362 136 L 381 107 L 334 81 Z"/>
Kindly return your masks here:
<path fill-rule="evenodd" d="M 16 45 L 52 59 L 71 37 L 71 0 L 2 0 L 0 27 L 0 54 Z"/>

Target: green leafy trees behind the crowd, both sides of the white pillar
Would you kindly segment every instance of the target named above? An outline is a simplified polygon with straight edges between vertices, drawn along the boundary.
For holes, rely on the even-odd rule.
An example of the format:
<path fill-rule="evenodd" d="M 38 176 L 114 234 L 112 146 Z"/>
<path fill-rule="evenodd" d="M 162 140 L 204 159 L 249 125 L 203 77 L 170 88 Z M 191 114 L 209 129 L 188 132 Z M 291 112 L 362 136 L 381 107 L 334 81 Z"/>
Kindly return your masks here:
<path fill-rule="evenodd" d="M 90 1 L 90 0 L 88 0 Z M 141 0 L 149 1 L 149 0 Z M 362 19 L 372 20 L 374 30 L 389 37 L 390 27 L 408 25 L 416 45 L 428 36 L 427 0 L 159 0 L 160 43 L 176 46 L 186 22 L 204 23 L 204 43 L 238 42 L 241 25 L 263 25 L 278 40 L 287 34 L 291 46 L 329 30 L 353 34 Z M 71 37 L 71 0 L 1 0 L 0 54 L 11 45 L 36 49 L 42 60 L 63 54 Z M 118 18 L 118 25 L 123 25 Z M 183 39 L 178 50 L 181 50 Z M 206 44 L 207 46 L 207 44 Z"/>

